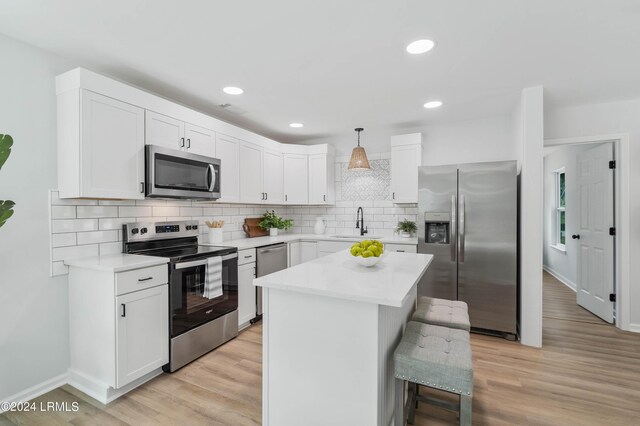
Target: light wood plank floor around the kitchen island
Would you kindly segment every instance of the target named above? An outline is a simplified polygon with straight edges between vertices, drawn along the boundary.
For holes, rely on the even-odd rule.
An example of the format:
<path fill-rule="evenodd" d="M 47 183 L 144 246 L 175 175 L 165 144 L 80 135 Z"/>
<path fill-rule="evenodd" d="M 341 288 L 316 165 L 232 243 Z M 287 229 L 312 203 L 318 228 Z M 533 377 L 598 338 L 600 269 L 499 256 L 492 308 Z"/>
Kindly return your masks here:
<path fill-rule="evenodd" d="M 565 290 L 545 276 L 543 349 L 472 334 L 474 424 L 640 425 L 640 334 L 585 316 Z M 255 325 L 108 406 L 65 386 L 37 400 L 78 401 L 79 412 L 6 413 L 0 426 L 260 424 L 261 333 Z M 456 416 L 446 410 L 417 410 L 417 426 L 453 424 Z"/>

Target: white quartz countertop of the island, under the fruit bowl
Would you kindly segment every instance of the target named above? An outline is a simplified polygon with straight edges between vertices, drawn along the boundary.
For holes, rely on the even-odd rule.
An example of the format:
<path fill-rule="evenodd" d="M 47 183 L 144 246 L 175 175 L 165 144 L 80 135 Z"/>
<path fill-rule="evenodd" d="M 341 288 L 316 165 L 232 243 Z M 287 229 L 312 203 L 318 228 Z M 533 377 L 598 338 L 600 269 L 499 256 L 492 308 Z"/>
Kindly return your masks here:
<path fill-rule="evenodd" d="M 348 250 L 339 251 L 256 278 L 253 284 L 400 307 L 433 259 L 430 254 L 388 252 L 377 265 L 365 268 L 350 256 Z"/>

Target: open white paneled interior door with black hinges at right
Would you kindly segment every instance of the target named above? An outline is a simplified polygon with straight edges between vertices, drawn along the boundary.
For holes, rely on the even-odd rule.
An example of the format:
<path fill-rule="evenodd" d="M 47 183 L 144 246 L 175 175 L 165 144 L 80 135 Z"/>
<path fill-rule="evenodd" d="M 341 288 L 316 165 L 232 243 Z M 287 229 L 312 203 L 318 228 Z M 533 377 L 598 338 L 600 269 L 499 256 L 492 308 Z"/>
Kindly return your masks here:
<path fill-rule="evenodd" d="M 578 155 L 578 199 L 580 213 L 578 252 L 578 305 L 603 320 L 613 322 L 613 250 L 615 238 L 609 235 L 613 222 L 613 160 L 610 143 Z"/>

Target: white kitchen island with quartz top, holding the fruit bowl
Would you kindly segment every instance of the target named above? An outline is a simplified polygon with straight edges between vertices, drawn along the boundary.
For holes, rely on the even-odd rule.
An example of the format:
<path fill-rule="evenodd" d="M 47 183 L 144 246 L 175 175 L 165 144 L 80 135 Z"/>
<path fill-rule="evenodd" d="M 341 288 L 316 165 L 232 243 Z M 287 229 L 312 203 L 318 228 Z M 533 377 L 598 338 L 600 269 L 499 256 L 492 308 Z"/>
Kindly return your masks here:
<path fill-rule="evenodd" d="M 263 424 L 389 425 L 392 356 L 431 255 L 348 251 L 254 280 L 263 287 Z"/>

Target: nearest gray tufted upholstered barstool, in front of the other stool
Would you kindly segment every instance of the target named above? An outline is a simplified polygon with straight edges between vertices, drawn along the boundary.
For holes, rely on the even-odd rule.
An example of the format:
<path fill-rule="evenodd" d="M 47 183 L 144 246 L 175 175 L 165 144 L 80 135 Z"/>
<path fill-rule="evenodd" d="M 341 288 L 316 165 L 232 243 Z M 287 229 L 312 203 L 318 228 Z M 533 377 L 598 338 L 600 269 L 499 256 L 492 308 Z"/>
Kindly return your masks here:
<path fill-rule="evenodd" d="M 469 332 L 411 321 L 394 354 L 395 425 L 413 424 L 416 401 L 457 411 L 460 425 L 471 425 L 473 367 Z M 405 381 L 409 395 L 404 401 Z M 459 395 L 459 404 L 417 395 L 416 385 Z M 405 410 L 408 407 L 408 416 Z"/>

